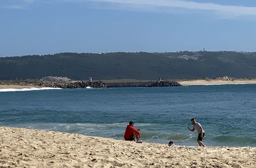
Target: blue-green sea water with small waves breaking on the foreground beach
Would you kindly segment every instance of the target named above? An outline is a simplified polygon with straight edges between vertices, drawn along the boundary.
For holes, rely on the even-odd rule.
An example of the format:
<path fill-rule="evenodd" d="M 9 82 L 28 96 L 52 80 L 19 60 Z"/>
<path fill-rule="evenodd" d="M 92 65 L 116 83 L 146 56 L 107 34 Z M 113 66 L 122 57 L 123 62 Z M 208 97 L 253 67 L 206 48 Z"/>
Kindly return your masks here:
<path fill-rule="evenodd" d="M 135 122 L 145 142 L 256 147 L 256 85 L 1 92 L 0 126 L 123 139 Z"/>

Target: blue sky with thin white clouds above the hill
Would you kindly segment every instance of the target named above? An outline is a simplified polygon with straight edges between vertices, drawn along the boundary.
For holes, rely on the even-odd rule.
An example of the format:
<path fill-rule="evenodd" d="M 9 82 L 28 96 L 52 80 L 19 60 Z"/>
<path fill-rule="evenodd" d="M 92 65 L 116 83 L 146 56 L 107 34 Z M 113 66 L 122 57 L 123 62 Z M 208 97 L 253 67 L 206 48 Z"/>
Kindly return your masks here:
<path fill-rule="evenodd" d="M 256 51 L 255 0 L 0 0 L 0 57 Z"/>

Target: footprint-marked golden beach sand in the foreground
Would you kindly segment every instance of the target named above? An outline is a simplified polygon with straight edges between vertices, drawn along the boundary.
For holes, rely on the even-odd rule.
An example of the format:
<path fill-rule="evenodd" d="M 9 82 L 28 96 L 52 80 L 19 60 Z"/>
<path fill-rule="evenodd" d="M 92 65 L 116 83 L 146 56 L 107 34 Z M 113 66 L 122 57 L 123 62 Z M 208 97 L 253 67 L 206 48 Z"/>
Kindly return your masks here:
<path fill-rule="evenodd" d="M 169 147 L 0 127 L 0 167 L 256 167 L 256 148 Z"/>

